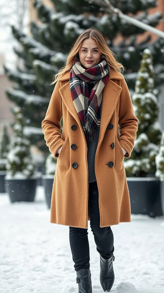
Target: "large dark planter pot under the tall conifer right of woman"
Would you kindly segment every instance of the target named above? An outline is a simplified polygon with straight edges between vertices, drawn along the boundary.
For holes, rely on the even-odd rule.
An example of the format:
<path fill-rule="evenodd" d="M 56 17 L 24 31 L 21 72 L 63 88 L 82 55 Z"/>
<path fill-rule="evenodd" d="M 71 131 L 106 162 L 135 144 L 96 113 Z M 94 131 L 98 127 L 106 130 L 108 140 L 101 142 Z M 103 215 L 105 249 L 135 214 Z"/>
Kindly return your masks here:
<path fill-rule="evenodd" d="M 127 177 L 132 214 L 164 214 L 164 185 L 156 177 Z"/>

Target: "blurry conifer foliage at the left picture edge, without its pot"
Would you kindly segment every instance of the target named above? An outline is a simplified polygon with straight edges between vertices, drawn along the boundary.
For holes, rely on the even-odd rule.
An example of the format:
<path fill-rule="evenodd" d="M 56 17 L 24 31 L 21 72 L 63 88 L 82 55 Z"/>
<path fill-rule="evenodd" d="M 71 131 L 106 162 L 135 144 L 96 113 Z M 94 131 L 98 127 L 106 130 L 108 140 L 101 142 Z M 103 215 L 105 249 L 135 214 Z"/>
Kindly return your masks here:
<path fill-rule="evenodd" d="M 0 133 L 0 171 L 6 171 L 6 157 L 9 151 L 9 143 L 7 127 L 3 124 Z"/>

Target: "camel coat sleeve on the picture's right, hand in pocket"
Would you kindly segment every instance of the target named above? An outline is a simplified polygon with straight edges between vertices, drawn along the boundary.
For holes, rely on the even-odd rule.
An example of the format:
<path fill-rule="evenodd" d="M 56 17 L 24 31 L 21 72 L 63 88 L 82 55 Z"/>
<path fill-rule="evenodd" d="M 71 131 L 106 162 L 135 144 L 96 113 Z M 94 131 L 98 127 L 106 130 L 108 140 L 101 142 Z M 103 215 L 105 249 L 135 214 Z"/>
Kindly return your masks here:
<path fill-rule="evenodd" d="M 122 91 L 120 94 L 120 107 L 118 114 L 118 125 L 120 132 L 120 145 L 127 153 L 125 158 L 129 158 L 134 147 L 136 132 L 138 130 L 138 119 L 134 114 L 130 92 L 125 79 L 121 80 Z"/>

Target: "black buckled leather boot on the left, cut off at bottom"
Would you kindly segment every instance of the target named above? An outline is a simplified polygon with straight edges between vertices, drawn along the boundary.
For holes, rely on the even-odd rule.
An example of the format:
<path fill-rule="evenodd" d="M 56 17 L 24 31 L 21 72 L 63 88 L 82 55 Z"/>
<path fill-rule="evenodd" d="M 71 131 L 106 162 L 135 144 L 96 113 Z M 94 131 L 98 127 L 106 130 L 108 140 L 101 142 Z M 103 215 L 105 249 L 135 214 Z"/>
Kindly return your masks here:
<path fill-rule="evenodd" d="M 81 269 L 77 271 L 76 274 L 76 283 L 78 283 L 78 293 L 92 293 L 90 270 Z"/>

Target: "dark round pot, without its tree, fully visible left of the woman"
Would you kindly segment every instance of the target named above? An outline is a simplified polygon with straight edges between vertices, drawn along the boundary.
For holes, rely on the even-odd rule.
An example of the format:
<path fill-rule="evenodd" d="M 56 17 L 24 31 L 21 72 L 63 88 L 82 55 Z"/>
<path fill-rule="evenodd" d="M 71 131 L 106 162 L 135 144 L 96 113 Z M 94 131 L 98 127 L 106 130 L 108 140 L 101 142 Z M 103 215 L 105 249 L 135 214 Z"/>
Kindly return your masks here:
<path fill-rule="evenodd" d="M 36 185 L 38 178 L 29 179 L 6 179 L 5 189 L 11 202 L 16 201 L 34 201 Z"/>

